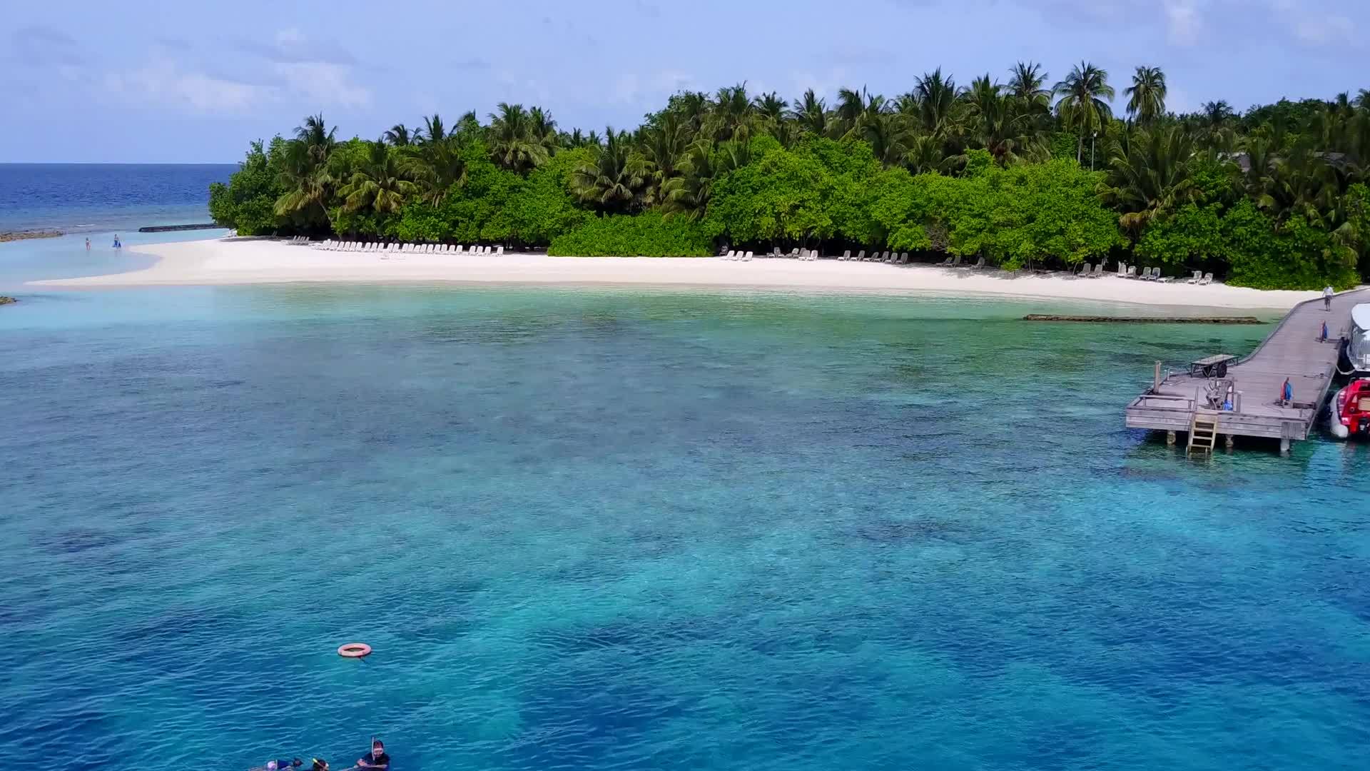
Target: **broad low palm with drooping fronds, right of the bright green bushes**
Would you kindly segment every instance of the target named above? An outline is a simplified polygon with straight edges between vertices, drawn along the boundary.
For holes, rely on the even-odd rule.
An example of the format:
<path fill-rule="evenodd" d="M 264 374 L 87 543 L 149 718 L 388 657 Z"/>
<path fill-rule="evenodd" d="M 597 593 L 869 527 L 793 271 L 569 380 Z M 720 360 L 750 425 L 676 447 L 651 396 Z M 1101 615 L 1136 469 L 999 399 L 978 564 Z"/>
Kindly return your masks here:
<path fill-rule="evenodd" d="M 1189 174 L 1193 155 L 1193 140 L 1182 126 L 1134 132 L 1114 143 L 1099 195 L 1123 213 L 1119 225 L 1140 233 L 1199 195 Z"/>

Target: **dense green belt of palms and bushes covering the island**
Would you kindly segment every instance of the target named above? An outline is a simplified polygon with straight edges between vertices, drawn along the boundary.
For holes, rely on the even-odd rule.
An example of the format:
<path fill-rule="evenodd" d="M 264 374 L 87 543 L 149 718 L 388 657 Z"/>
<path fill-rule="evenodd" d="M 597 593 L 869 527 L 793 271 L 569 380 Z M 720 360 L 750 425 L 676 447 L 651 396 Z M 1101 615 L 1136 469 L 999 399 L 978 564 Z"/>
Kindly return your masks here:
<path fill-rule="evenodd" d="M 214 218 L 240 233 L 504 243 L 552 254 L 703 255 L 730 244 L 892 248 L 1008 269 L 1106 259 L 1251 287 L 1347 287 L 1370 270 L 1370 92 L 1237 114 L 1166 110 L 1138 67 L 1048 85 L 941 70 L 896 99 L 745 85 L 681 92 L 633 132 L 559 130 L 500 104 L 340 141 L 322 115 L 253 143 Z"/>

